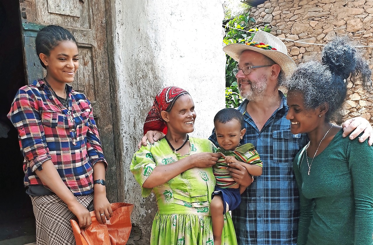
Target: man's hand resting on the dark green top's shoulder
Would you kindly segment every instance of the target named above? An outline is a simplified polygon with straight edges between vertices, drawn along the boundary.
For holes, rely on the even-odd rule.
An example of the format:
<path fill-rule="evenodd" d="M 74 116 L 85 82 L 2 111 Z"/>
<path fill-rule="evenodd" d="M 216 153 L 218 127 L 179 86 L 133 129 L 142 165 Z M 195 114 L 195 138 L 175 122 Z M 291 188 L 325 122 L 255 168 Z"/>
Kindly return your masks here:
<path fill-rule="evenodd" d="M 373 128 L 369 121 L 362 117 L 355 117 L 348 119 L 342 124 L 343 137 L 350 135 L 350 139 L 355 139 L 359 134 L 364 132 L 359 137 L 359 142 L 364 142 L 369 138 L 368 144 L 371 146 L 373 143 Z M 352 133 L 351 133 L 352 132 Z"/>

